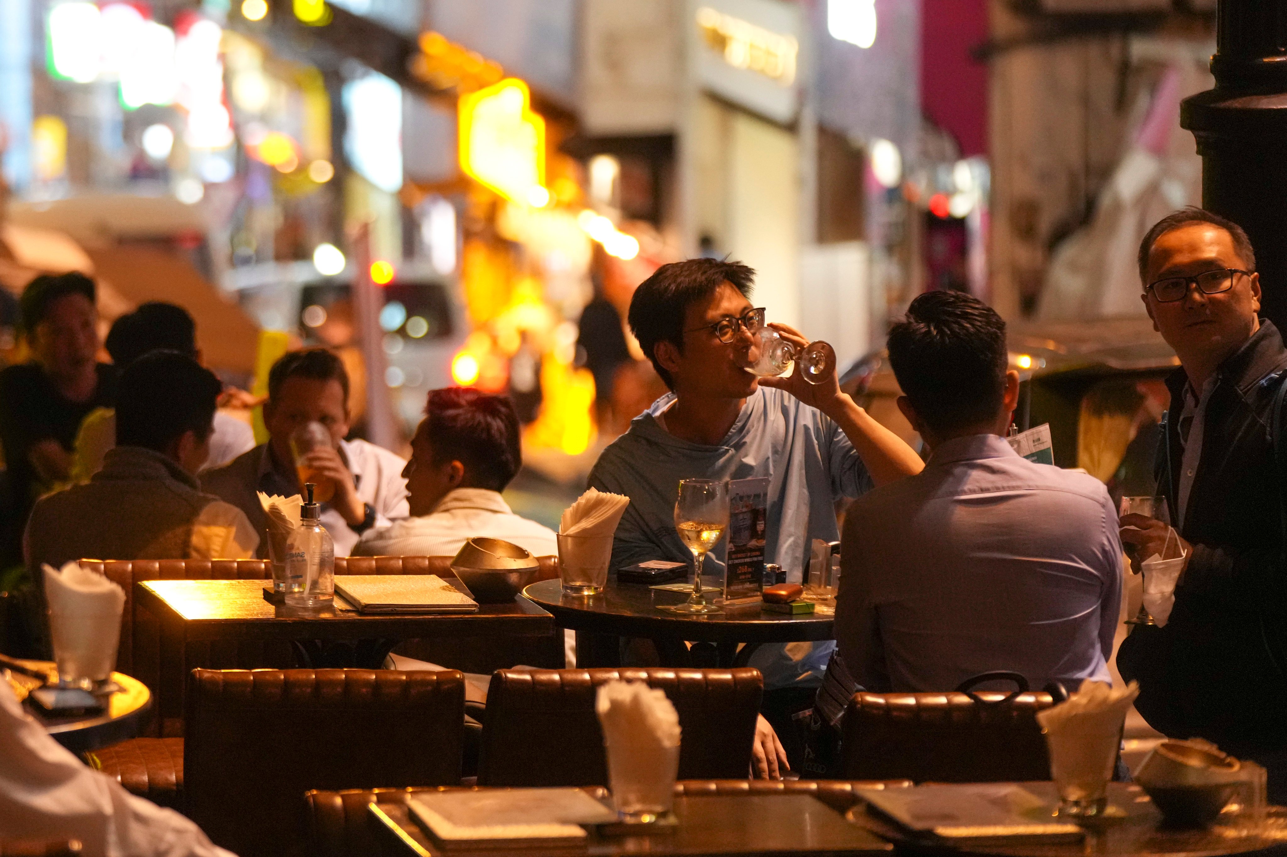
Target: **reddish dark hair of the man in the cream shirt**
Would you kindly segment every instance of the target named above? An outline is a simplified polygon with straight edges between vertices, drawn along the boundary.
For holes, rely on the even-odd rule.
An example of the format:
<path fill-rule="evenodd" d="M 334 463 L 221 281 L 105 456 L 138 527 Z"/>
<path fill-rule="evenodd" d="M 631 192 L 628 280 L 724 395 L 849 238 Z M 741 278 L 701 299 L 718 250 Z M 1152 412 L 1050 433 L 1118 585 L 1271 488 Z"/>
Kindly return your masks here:
<path fill-rule="evenodd" d="M 470 387 L 430 390 L 425 434 L 438 462 L 465 465 L 468 488 L 503 490 L 523 466 L 519 416 L 505 396 Z"/>

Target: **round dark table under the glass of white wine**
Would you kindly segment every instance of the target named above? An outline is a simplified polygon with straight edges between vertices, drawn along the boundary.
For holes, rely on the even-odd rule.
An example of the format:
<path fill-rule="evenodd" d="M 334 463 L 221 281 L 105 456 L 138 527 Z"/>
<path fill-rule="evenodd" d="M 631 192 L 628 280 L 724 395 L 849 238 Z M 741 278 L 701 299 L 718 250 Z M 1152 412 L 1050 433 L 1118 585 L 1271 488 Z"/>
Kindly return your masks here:
<path fill-rule="evenodd" d="M 744 667 L 762 643 L 831 640 L 833 616 L 790 616 L 758 604 L 723 613 L 685 615 L 665 610 L 687 593 L 609 580 L 597 596 L 571 596 L 559 580 L 533 583 L 523 594 L 577 632 L 578 667 L 620 667 L 620 637 L 646 637 L 665 667 Z M 699 645 L 689 649 L 685 641 Z M 704 645 L 700 645 L 704 643 Z M 737 649 L 737 643 L 745 643 Z"/>

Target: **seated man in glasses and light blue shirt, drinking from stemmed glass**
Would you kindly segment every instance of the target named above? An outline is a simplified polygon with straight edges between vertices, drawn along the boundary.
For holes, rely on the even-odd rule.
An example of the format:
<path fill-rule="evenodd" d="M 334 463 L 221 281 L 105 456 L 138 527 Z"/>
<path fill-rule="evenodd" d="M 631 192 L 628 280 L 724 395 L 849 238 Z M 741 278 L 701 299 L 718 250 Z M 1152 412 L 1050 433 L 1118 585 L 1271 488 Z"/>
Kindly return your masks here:
<path fill-rule="evenodd" d="M 636 417 L 589 474 L 592 486 L 631 498 L 613 544 L 615 569 L 691 558 L 674 529 L 680 480 L 768 477 L 764 560 L 801 580 L 811 539 L 839 539 L 838 499 L 923 466 L 840 392 L 834 376 L 813 385 L 799 372 L 757 380 L 743 368 L 764 324 L 764 310 L 748 300 L 754 277 L 737 263 L 690 259 L 659 268 L 631 300 L 631 331 L 671 392 Z M 772 327 L 793 345 L 808 344 L 784 324 Z M 708 573 L 713 567 L 722 571 L 714 555 L 707 557 Z M 833 647 L 763 646 L 750 665 L 764 673 L 766 700 L 793 688 L 807 708 Z M 776 779 L 780 758 L 781 746 L 762 721 L 759 775 Z"/>

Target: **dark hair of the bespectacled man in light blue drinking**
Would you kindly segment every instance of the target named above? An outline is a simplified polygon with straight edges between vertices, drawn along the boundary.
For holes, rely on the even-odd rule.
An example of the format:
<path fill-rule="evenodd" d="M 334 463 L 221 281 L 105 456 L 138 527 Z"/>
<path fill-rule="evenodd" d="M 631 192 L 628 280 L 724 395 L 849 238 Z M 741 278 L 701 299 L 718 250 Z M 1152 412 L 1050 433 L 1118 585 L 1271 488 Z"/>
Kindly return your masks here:
<path fill-rule="evenodd" d="M 656 344 L 673 342 L 682 353 L 683 317 L 689 308 L 714 295 L 723 283 L 750 297 L 755 272 L 741 263 L 689 259 L 662 265 L 634 290 L 628 318 L 631 332 L 665 386 L 674 387 L 671 373 L 656 360 Z"/>

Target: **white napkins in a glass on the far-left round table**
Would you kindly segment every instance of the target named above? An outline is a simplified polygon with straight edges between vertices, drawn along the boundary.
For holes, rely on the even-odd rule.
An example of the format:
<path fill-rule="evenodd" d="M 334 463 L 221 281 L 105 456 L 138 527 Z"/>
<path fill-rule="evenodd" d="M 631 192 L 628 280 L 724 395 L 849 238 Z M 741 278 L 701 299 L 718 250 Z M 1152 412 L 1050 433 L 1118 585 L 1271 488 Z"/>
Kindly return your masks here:
<path fill-rule="evenodd" d="M 66 678 L 103 681 L 112 674 L 121 642 L 125 592 L 104 575 L 68 562 L 44 566 L 49 629 L 58 672 Z"/>

